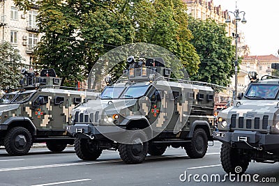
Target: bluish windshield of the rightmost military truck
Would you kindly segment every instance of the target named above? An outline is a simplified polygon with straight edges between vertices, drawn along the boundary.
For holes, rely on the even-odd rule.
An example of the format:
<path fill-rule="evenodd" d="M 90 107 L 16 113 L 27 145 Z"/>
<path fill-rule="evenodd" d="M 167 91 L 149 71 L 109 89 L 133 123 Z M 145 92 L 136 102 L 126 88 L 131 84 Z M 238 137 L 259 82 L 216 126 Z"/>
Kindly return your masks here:
<path fill-rule="evenodd" d="M 248 99 L 274 100 L 278 94 L 278 90 L 278 84 L 250 84 L 244 96 Z"/>

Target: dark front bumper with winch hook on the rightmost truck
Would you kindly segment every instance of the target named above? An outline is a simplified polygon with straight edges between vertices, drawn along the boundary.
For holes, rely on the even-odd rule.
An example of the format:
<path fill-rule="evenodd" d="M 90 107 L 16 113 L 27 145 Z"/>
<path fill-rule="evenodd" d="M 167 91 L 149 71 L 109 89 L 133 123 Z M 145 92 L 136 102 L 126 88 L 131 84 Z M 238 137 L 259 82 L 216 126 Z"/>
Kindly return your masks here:
<path fill-rule="evenodd" d="M 235 130 L 234 132 L 213 132 L 213 138 L 234 148 L 271 150 L 279 147 L 279 134 Z"/>

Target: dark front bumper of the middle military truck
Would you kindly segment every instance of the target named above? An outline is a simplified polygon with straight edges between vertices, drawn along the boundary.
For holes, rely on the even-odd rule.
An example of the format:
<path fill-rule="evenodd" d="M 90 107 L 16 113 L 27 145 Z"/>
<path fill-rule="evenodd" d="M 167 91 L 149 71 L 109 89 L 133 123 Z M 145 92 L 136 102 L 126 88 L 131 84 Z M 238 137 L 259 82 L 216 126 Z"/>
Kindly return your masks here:
<path fill-rule="evenodd" d="M 67 131 L 74 137 L 86 139 L 110 139 L 126 130 L 118 126 L 94 126 L 92 124 L 68 125 Z"/>

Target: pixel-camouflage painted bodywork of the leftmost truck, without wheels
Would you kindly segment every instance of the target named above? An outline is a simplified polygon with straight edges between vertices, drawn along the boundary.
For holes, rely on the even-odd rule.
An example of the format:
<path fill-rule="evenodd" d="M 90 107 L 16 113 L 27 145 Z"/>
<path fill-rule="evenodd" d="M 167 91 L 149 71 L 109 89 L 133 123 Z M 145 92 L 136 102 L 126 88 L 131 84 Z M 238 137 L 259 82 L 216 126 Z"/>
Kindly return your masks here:
<path fill-rule="evenodd" d="M 8 124 L 11 117 L 27 117 L 37 129 L 64 129 L 68 125 L 70 111 L 78 104 L 75 98 L 83 102 L 85 98 L 96 99 L 97 93 L 85 91 L 71 91 L 57 88 L 42 88 L 39 90 L 24 91 L 33 93 L 30 100 L 22 103 L 0 104 L 0 125 Z M 47 101 L 38 106 L 34 102 L 39 97 Z M 63 102 L 56 104 L 55 98 L 63 98 Z"/>

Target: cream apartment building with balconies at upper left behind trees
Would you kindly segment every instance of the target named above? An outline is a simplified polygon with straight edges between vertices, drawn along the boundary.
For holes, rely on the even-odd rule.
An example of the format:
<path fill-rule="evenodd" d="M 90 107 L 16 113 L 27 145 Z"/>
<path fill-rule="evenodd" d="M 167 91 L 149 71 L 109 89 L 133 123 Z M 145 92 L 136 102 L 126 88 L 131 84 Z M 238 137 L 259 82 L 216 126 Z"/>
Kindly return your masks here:
<path fill-rule="evenodd" d="M 33 68 L 33 48 L 40 40 L 36 22 L 38 7 L 24 13 L 13 0 L 0 0 L 0 41 L 7 41 L 20 50 L 25 68 Z"/>

